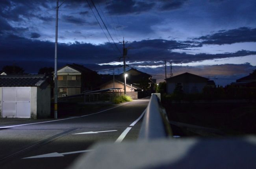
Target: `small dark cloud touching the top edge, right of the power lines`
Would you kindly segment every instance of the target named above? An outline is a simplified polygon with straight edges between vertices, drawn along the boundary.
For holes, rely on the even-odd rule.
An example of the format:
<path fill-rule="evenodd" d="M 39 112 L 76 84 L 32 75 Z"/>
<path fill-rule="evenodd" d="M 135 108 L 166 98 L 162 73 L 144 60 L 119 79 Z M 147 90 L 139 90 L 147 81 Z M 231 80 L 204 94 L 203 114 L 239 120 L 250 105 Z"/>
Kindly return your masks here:
<path fill-rule="evenodd" d="M 129 13 L 139 14 L 141 12 L 149 11 L 155 5 L 154 2 L 142 2 L 135 0 L 114 0 L 108 3 L 110 14 L 124 15 Z"/>

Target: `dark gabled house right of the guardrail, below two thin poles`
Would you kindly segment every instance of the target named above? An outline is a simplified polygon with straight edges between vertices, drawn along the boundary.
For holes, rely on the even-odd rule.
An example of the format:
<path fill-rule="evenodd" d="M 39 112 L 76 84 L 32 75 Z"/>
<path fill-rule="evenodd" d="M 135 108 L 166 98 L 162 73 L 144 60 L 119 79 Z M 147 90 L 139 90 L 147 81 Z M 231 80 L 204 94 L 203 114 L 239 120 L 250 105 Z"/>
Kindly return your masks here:
<path fill-rule="evenodd" d="M 208 78 L 194 75 L 192 73 L 182 73 L 165 79 L 167 94 L 173 93 L 176 85 L 181 85 L 185 93 L 201 93 L 203 88 L 208 85 Z"/>

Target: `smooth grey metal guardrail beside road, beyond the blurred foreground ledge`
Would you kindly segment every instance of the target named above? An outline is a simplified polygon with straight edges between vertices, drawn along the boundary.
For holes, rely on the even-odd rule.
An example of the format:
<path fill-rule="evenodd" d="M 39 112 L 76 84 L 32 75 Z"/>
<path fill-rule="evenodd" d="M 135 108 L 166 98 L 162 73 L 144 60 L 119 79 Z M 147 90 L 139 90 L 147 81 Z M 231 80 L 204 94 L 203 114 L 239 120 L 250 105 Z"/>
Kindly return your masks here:
<path fill-rule="evenodd" d="M 169 138 L 172 136 L 165 109 L 160 106 L 160 94 L 152 94 L 143 118 L 139 139 Z"/>

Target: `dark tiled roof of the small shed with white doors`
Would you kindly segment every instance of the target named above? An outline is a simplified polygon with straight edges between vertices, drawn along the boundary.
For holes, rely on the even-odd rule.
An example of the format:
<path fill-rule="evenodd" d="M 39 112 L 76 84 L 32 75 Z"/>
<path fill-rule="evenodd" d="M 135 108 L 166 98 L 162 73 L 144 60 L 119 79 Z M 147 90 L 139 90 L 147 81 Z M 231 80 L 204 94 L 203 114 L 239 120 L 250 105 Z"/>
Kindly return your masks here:
<path fill-rule="evenodd" d="M 47 79 L 45 75 L 0 75 L 0 87 L 41 86 Z"/>

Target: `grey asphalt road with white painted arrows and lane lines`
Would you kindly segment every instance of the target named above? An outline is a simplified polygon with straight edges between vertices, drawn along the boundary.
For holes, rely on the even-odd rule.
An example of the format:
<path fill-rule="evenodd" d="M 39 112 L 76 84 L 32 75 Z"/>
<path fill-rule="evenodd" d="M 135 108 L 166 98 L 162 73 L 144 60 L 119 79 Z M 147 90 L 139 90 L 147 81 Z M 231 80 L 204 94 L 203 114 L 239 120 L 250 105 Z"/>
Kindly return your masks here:
<path fill-rule="evenodd" d="M 99 141 L 136 140 L 149 97 L 102 112 L 0 125 L 1 169 L 63 169 Z M 6 119 L 8 120 L 8 119 Z"/>

